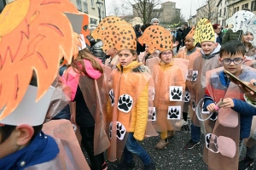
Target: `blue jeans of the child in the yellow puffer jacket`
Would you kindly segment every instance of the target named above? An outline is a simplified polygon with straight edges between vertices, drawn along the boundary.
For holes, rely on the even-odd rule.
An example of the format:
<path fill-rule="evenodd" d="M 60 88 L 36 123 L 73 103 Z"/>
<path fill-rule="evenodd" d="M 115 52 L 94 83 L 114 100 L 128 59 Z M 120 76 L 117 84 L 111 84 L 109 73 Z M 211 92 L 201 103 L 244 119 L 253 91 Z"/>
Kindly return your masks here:
<path fill-rule="evenodd" d="M 132 154 L 136 154 L 146 166 L 151 163 L 151 158 L 148 156 L 146 150 L 137 143 L 137 140 L 133 137 L 133 133 L 129 133 L 124 150 L 125 161 L 127 163 L 131 163 L 131 161 L 133 161 Z"/>

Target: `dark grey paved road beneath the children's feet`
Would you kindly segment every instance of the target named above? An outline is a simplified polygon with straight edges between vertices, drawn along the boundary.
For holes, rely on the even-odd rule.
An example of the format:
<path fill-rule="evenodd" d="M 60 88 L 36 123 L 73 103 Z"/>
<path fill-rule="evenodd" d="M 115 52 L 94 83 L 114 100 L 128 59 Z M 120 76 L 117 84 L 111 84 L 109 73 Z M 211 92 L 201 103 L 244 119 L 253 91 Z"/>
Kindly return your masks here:
<path fill-rule="evenodd" d="M 158 170 L 207 170 L 207 165 L 202 160 L 202 150 L 204 147 L 204 136 L 201 134 L 201 144 L 198 144 L 192 150 L 187 150 L 184 145 L 189 141 L 189 132 L 177 132 L 175 137 L 170 139 L 166 149 L 156 150 L 154 145 L 159 141 L 159 137 L 144 139 L 140 144 L 148 154 L 153 157 Z M 88 156 L 84 151 L 86 160 Z M 245 156 L 245 150 L 241 153 L 241 158 Z M 105 158 L 107 156 L 105 155 Z M 107 161 L 107 159 L 106 159 Z M 134 156 L 136 167 L 133 170 L 142 170 L 143 162 L 137 156 Z M 119 161 L 108 162 L 108 170 L 113 170 Z M 254 165 L 256 161 L 254 161 Z"/>

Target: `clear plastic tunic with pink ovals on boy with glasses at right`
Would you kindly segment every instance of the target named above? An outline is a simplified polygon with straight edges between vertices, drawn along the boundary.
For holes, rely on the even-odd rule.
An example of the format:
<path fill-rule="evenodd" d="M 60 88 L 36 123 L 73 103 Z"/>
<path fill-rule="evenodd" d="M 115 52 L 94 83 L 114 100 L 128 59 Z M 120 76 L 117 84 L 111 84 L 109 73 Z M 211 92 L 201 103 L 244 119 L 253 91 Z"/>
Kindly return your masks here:
<path fill-rule="evenodd" d="M 230 82 L 228 88 L 220 82 L 219 76 L 224 68 L 207 71 L 207 94 L 218 103 L 220 99 L 243 99 L 243 94 L 238 85 Z M 246 65 L 242 66 L 241 81 L 249 82 L 256 76 Z M 208 116 L 208 114 L 206 115 Z M 240 115 L 231 108 L 221 108 L 215 125 L 205 122 L 206 129 L 212 128 L 212 133 L 207 132 L 204 161 L 209 169 L 238 169 L 239 144 L 240 144 Z"/>

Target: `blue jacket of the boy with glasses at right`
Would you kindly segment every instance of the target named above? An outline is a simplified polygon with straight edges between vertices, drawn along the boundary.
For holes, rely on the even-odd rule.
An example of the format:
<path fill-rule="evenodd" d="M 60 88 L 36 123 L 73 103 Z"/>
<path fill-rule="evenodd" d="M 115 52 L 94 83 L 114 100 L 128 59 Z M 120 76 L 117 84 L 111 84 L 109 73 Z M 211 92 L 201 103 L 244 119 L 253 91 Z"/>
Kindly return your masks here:
<path fill-rule="evenodd" d="M 224 87 L 229 87 L 230 80 L 224 75 L 224 72 L 219 75 L 219 80 Z M 256 116 L 256 108 L 252 105 L 248 105 L 241 99 L 233 99 L 233 101 L 235 106 L 231 109 L 240 114 L 240 137 L 241 139 L 248 138 L 251 133 L 253 116 Z M 204 105 L 207 107 L 212 103 L 214 103 L 214 101 L 211 96 L 206 94 Z"/>

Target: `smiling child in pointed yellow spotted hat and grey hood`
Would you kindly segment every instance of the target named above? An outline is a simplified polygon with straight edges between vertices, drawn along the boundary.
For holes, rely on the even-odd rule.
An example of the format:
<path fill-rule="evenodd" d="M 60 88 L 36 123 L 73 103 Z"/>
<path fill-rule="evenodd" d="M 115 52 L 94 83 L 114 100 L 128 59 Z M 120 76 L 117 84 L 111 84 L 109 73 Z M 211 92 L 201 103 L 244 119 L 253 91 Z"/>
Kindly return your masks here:
<path fill-rule="evenodd" d="M 206 88 L 206 72 L 218 68 L 221 64 L 218 61 L 220 45 L 216 43 L 215 32 L 209 20 L 201 19 L 195 29 L 194 45 L 201 43 L 201 55 L 195 57 L 192 71 L 189 71 L 191 83 L 189 111 L 191 123 L 191 139 L 185 145 L 187 149 L 192 149 L 199 144 L 201 137 L 201 123 L 195 114 L 195 107 L 204 97 L 204 88 Z M 212 122 L 215 118 L 212 117 Z"/>

